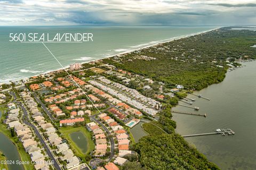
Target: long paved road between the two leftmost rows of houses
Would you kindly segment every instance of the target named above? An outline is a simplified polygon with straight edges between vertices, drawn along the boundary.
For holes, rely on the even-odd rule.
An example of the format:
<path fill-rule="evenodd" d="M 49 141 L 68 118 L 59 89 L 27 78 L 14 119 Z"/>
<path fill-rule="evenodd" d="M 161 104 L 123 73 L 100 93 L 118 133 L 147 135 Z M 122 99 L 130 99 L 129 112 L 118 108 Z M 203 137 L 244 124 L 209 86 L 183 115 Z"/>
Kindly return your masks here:
<path fill-rule="evenodd" d="M 27 124 L 28 126 L 30 126 L 31 128 L 33 128 L 34 132 L 36 133 L 38 139 L 40 140 L 40 142 L 42 143 L 43 147 L 45 148 L 47 155 L 53 160 L 53 166 L 57 169 L 57 170 L 61 170 L 59 164 L 57 163 L 57 160 L 54 158 L 52 152 L 50 151 L 50 149 L 48 148 L 48 146 L 46 145 L 42 135 L 39 133 L 39 131 L 37 130 L 36 126 L 33 125 L 32 123 L 29 122 L 28 120 L 28 113 L 26 108 L 22 105 L 22 103 L 20 103 L 19 101 L 16 101 L 17 96 L 15 95 L 14 92 L 10 92 L 10 94 L 14 97 L 14 102 L 17 103 L 18 105 L 20 105 L 20 107 L 22 108 L 22 111 L 24 113 L 24 116 L 22 117 L 22 121 Z"/>

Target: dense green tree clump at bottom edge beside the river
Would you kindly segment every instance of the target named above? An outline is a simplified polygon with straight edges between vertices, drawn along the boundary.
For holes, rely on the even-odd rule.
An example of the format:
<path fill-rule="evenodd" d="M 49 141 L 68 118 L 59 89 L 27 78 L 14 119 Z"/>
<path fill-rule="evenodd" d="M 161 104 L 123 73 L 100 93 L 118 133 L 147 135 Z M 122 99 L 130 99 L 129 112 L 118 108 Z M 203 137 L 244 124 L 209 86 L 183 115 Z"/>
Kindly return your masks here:
<path fill-rule="evenodd" d="M 219 169 L 178 134 L 143 137 L 135 150 L 146 169 Z"/>

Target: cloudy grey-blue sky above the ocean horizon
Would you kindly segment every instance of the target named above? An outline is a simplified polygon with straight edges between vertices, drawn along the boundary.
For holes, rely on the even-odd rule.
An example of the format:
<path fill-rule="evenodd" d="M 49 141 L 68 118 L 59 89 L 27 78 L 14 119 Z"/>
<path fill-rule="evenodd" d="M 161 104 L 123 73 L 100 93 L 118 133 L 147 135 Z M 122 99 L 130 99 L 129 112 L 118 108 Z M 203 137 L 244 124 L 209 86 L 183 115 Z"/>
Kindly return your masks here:
<path fill-rule="evenodd" d="M 256 0 L 0 0 L 0 25 L 242 24 L 256 24 Z"/>

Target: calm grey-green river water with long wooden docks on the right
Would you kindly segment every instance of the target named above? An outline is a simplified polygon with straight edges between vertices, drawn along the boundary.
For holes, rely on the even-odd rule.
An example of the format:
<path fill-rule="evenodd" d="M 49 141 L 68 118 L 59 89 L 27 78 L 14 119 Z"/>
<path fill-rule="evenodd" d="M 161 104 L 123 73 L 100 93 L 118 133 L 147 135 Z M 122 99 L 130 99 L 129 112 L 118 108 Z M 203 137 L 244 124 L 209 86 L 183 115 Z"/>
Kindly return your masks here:
<path fill-rule="evenodd" d="M 235 131 L 232 136 L 185 138 L 221 169 L 256 169 L 256 61 L 242 64 L 246 66 L 228 72 L 223 82 L 195 92 L 210 101 L 188 96 L 196 99 L 192 106 L 200 107 L 198 113 L 207 113 L 206 118 L 173 113 L 179 134 Z M 196 112 L 182 106 L 173 110 Z"/>

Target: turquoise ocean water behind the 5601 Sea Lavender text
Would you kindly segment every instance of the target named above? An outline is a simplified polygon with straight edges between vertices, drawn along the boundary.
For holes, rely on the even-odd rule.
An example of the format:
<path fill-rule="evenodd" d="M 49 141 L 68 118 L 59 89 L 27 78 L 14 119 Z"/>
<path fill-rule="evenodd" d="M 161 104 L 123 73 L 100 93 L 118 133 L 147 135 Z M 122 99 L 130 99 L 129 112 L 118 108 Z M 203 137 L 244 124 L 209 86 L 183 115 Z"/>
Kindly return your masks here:
<path fill-rule="evenodd" d="M 41 43 L 9 42 L 10 33 L 93 33 L 93 42 L 48 43 L 62 65 L 84 63 L 216 27 L 0 27 L 0 83 L 60 69 Z"/>

